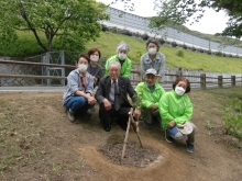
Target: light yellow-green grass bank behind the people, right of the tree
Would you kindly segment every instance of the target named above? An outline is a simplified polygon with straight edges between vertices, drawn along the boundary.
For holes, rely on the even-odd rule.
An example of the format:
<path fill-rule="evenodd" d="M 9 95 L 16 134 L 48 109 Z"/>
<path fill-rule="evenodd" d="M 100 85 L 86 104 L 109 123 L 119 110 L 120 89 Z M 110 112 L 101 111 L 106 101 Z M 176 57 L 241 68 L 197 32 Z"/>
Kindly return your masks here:
<path fill-rule="evenodd" d="M 110 57 L 116 54 L 117 45 L 121 41 L 124 41 L 130 45 L 131 52 L 129 53 L 129 57 L 133 64 L 139 64 L 141 55 L 146 53 L 145 41 L 139 38 L 110 32 L 102 32 L 96 42 L 87 43 L 86 47 L 87 49 L 97 47 L 101 50 L 102 57 Z M 166 67 L 182 67 L 184 69 L 213 72 L 242 71 L 241 58 L 218 57 L 187 49 L 183 49 L 184 57 L 180 57 L 177 54 L 180 48 L 174 48 L 167 45 L 161 46 L 160 52 L 166 56 Z"/>

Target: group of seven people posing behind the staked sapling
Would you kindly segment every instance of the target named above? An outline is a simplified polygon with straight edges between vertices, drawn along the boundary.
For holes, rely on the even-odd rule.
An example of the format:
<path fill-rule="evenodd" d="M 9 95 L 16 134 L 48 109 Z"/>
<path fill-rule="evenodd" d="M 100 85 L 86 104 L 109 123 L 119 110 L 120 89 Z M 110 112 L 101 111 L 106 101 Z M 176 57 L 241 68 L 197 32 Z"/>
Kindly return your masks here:
<path fill-rule="evenodd" d="M 133 108 L 132 116 L 135 121 L 142 116 L 145 128 L 163 127 L 166 142 L 186 139 L 186 148 L 193 152 L 196 126 L 190 122 L 193 104 L 186 94 L 190 91 L 190 82 L 179 77 L 173 83 L 173 90 L 166 92 L 160 84 L 165 70 L 165 56 L 158 52 L 157 39 L 148 39 L 146 50 L 141 56 L 143 80 L 135 89 L 129 79 L 132 61 L 128 58 L 130 47 L 124 42 L 118 45 L 117 54 L 106 61 L 105 76 L 97 64 L 101 57 L 99 49 L 91 48 L 87 55 L 79 55 L 77 68 L 67 77 L 63 95 L 67 117 L 74 122 L 75 114 L 79 112 L 89 117 L 88 110 L 98 102 L 99 118 L 106 132 L 111 131 L 114 120 L 127 129 Z"/>

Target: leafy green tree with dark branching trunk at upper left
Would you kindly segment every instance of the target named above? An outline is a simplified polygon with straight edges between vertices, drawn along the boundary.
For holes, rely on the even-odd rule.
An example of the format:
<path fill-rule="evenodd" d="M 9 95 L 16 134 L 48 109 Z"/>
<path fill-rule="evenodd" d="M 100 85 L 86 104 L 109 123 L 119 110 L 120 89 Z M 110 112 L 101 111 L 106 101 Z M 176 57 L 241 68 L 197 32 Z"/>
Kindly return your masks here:
<path fill-rule="evenodd" d="M 99 36 L 99 22 L 109 19 L 106 9 L 96 0 L 0 1 L 0 43 L 15 41 L 16 31 L 29 31 L 45 52 L 53 42 L 59 49 L 82 50 Z"/>

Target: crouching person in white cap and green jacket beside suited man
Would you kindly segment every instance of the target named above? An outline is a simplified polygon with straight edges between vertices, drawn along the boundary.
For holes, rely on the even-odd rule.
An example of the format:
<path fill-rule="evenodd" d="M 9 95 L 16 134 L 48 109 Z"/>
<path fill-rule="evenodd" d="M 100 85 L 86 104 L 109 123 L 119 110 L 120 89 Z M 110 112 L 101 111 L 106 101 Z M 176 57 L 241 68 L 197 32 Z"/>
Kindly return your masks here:
<path fill-rule="evenodd" d="M 144 77 L 145 81 L 140 82 L 135 89 L 145 128 L 151 128 L 152 123 L 161 128 L 158 101 L 165 90 L 156 82 L 156 76 L 157 71 L 154 68 L 147 69 Z"/>

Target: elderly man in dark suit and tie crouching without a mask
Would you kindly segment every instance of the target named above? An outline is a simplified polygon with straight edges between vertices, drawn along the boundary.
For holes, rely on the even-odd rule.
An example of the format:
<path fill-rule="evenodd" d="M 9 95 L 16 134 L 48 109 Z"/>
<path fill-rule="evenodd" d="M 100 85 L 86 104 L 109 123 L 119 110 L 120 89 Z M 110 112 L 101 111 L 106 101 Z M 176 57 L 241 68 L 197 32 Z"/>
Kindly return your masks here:
<path fill-rule="evenodd" d="M 130 79 L 120 76 L 121 65 L 118 61 L 109 64 L 108 77 L 100 79 L 98 90 L 95 98 L 97 99 L 99 108 L 99 118 L 103 124 L 103 129 L 110 132 L 111 121 L 118 117 L 123 129 L 127 129 L 129 120 L 129 112 L 132 105 L 127 95 L 129 94 L 134 105 L 136 102 L 136 92 L 131 86 Z M 133 117 L 138 118 L 140 111 L 138 109 L 133 112 Z"/>

